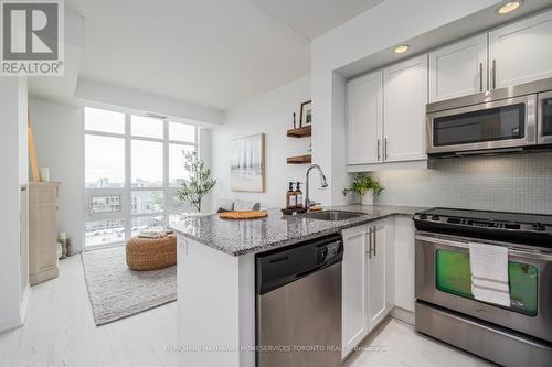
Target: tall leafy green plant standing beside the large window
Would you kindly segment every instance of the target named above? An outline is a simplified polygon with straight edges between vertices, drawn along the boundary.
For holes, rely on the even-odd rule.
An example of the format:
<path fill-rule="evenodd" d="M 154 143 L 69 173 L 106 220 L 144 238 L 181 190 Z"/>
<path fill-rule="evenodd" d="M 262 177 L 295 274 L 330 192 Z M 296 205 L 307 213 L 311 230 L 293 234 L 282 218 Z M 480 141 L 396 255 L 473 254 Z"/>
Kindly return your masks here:
<path fill-rule="evenodd" d="M 181 202 L 190 203 L 198 213 L 201 213 L 201 201 L 216 184 L 216 180 L 211 179 L 211 170 L 205 166 L 205 162 L 198 158 L 197 152 L 183 151 L 184 170 L 189 179 L 182 183 L 182 188 L 178 192 Z"/>

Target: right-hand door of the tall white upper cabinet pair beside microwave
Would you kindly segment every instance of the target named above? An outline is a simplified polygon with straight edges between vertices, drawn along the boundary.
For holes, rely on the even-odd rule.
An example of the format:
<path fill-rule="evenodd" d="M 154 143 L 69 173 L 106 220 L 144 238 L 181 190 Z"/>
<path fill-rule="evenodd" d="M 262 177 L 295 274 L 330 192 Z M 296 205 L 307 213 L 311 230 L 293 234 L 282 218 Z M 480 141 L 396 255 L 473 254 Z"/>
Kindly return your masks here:
<path fill-rule="evenodd" d="M 384 160 L 400 162 L 427 159 L 427 55 L 385 68 L 383 82 Z"/>

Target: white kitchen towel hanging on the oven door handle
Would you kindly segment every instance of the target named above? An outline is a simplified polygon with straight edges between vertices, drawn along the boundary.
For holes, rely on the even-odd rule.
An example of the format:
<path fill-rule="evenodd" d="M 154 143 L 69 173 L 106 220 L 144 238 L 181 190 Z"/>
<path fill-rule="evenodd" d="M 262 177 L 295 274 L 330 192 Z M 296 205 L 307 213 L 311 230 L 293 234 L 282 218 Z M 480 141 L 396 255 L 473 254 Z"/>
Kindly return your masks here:
<path fill-rule="evenodd" d="M 474 298 L 509 307 L 508 248 L 469 242 L 469 266 Z"/>

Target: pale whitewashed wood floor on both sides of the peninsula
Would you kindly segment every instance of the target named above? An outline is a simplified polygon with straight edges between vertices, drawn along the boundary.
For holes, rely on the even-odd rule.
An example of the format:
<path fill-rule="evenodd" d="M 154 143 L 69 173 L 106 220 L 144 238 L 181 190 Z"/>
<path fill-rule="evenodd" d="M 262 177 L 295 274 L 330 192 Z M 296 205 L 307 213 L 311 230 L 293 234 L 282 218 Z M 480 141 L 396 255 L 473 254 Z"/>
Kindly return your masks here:
<path fill-rule="evenodd" d="M 32 288 L 25 325 L 0 334 L 0 366 L 176 366 L 177 355 L 167 352 L 177 345 L 176 325 L 173 302 L 96 327 L 82 260 L 74 256 L 61 262 L 60 278 Z M 365 345 L 375 348 L 352 355 L 344 366 L 489 366 L 395 320 Z"/>

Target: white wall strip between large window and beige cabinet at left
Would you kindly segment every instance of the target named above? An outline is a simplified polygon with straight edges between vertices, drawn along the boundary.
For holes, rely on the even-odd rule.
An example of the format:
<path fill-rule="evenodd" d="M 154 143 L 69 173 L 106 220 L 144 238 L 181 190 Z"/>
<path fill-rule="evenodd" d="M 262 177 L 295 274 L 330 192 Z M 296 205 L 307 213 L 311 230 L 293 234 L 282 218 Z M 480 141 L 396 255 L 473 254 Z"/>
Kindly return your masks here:
<path fill-rule="evenodd" d="M 84 110 L 31 99 L 36 159 L 60 181 L 59 230 L 71 237 L 73 251 L 83 247 L 84 213 Z"/>

